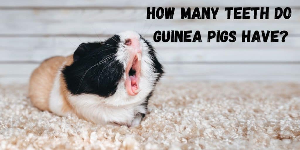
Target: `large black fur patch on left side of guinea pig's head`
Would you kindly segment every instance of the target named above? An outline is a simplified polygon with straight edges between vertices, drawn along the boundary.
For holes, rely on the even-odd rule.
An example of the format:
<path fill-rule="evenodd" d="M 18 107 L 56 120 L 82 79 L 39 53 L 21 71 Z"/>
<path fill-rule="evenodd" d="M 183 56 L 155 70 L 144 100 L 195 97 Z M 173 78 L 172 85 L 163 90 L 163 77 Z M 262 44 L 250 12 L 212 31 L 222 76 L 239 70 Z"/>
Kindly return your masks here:
<path fill-rule="evenodd" d="M 114 35 L 104 42 L 82 43 L 74 52 L 74 62 L 62 73 L 72 94 L 91 93 L 108 97 L 117 90 L 125 71 L 117 61 L 120 37 Z"/>

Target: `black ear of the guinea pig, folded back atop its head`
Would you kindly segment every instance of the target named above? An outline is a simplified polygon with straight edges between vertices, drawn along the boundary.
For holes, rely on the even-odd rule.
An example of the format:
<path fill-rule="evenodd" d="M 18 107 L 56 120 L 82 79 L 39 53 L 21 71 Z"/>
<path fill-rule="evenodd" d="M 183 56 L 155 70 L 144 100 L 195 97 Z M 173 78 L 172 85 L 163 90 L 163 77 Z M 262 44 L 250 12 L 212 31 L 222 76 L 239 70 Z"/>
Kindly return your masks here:
<path fill-rule="evenodd" d="M 100 48 L 102 45 L 100 43 L 81 43 L 77 49 L 75 50 L 74 54 L 73 54 L 73 60 L 77 61 L 78 59 L 84 57 L 85 55 L 87 55 L 89 52 L 91 52 L 92 50 L 95 50 L 97 48 Z"/>

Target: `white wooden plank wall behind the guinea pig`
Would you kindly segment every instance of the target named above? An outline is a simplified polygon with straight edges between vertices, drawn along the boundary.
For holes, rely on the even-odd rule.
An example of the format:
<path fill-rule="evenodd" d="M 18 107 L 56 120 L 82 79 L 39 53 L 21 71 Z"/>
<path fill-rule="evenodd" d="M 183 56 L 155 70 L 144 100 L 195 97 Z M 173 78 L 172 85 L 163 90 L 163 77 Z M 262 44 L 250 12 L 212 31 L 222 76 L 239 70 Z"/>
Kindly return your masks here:
<path fill-rule="evenodd" d="M 170 19 L 146 19 L 146 7 L 176 7 Z M 180 19 L 180 7 L 220 7 L 217 19 Z M 224 7 L 270 7 L 269 19 L 226 19 Z M 291 7 L 290 19 L 274 19 Z M 193 9 L 192 9 L 193 10 Z M 300 1 L 12 0 L 0 3 L 0 83 L 26 83 L 45 58 L 70 55 L 82 42 L 135 30 L 153 41 L 157 30 L 199 30 L 202 43 L 155 46 L 163 81 L 300 81 Z M 252 12 L 250 13 L 250 15 Z M 234 43 L 206 42 L 210 30 L 235 30 Z M 242 30 L 287 30 L 286 42 L 242 43 Z M 279 36 L 281 39 L 281 36 Z M 281 40 L 279 40 L 281 41 Z"/>

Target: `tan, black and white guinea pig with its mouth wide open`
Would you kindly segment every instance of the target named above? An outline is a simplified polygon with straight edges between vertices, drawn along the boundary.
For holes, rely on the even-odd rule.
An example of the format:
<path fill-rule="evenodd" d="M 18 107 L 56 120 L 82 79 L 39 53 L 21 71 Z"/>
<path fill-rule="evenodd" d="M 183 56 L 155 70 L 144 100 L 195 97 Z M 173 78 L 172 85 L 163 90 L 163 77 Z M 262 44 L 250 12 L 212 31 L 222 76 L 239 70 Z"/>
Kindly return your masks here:
<path fill-rule="evenodd" d="M 163 73 L 153 46 L 126 31 L 44 60 L 30 77 L 29 97 L 35 107 L 59 116 L 137 126 Z"/>

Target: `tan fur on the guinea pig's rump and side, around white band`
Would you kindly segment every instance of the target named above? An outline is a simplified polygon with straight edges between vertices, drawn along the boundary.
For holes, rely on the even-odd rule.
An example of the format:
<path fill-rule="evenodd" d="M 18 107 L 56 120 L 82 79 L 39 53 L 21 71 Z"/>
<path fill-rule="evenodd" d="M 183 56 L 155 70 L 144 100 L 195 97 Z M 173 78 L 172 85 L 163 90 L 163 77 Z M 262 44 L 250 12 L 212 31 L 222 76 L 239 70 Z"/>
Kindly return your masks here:
<path fill-rule="evenodd" d="M 41 65 L 33 71 L 29 81 L 29 97 L 35 107 L 38 107 L 41 110 L 50 111 L 49 97 L 55 76 L 63 64 L 70 65 L 72 62 L 73 55 L 68 57 L 52 57 L 43 61 Z M 61 78 L 61 82 L 63 84 L 61 84 L 60 91 L 61 95 L 64 97 L 62 109 L 63 112 L 67 112 L 70 110 L 70 104 L 66 99 L 67 91 L 63 78 Z"/>

